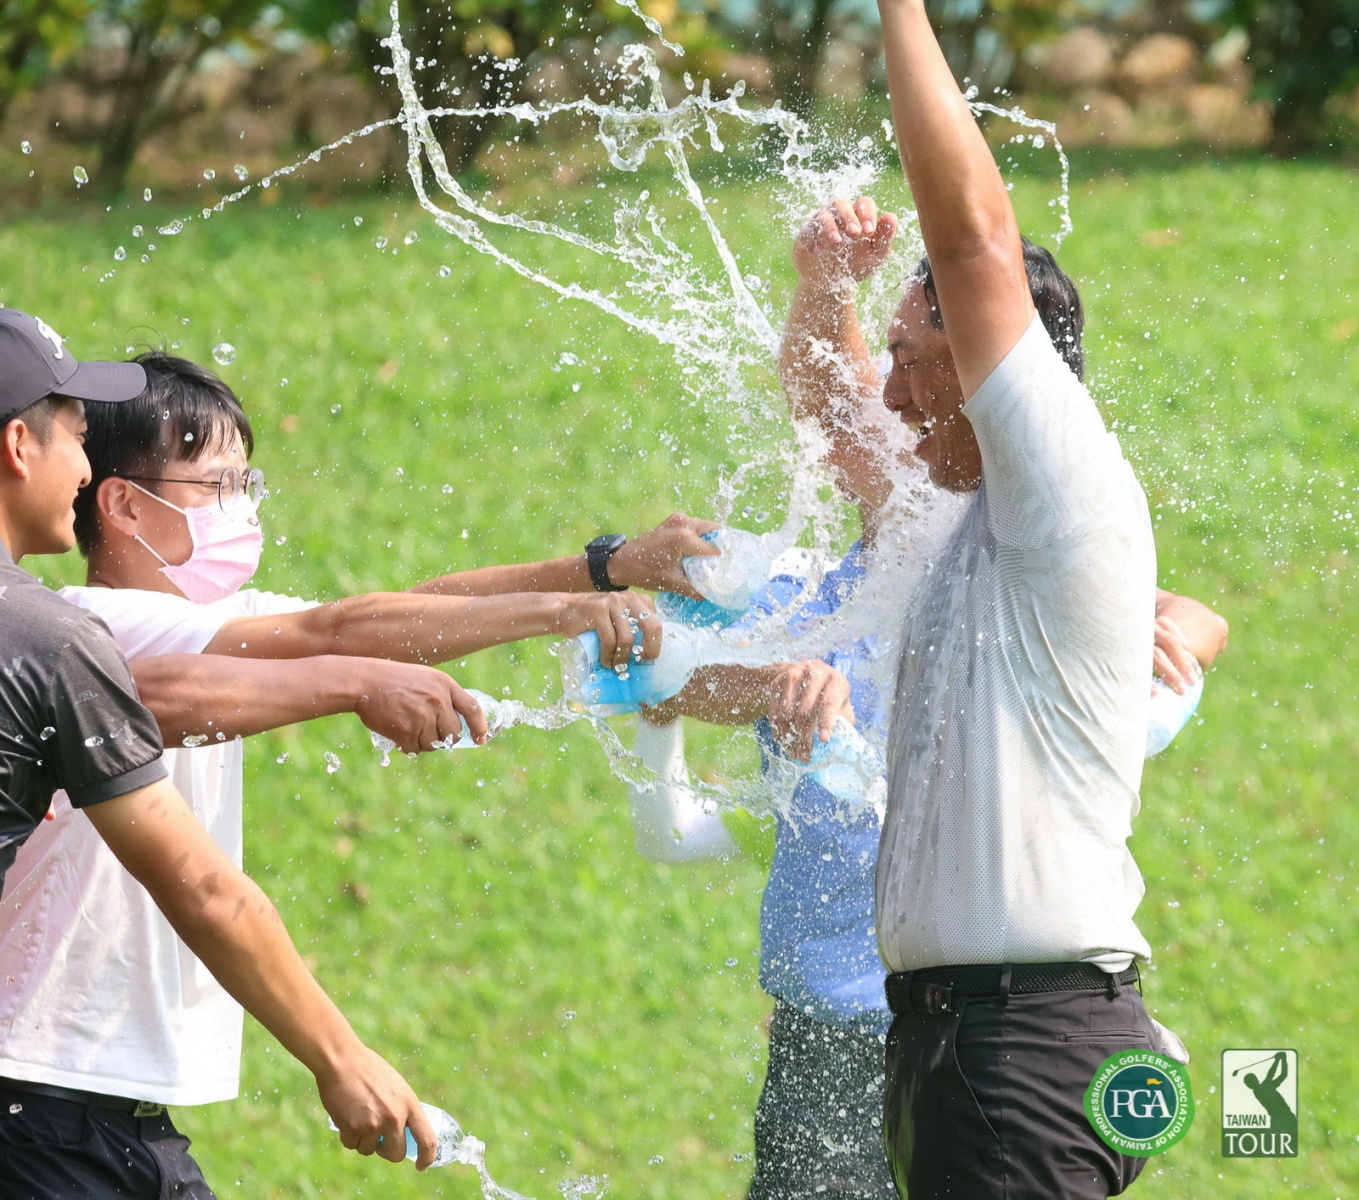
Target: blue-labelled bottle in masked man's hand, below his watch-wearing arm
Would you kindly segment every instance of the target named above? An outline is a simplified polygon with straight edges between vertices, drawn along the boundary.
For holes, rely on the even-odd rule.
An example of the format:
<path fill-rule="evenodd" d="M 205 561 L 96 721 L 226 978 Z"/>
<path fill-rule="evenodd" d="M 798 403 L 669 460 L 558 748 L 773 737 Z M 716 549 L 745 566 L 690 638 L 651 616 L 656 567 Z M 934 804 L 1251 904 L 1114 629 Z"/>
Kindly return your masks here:
<path fill-rule="evenodd" d="M 701 650 L 715 636 L 663 621 L 660 654 L 650 660 L 633 656 L 626 670 L 616 671 L 601 666 L 599 635 L 591 629 L 559 651 L 563 692 L 571 704 L 598 716 L 637 712 L 643 704 L 659 704 L 682 690 L 703 660 Z"/>

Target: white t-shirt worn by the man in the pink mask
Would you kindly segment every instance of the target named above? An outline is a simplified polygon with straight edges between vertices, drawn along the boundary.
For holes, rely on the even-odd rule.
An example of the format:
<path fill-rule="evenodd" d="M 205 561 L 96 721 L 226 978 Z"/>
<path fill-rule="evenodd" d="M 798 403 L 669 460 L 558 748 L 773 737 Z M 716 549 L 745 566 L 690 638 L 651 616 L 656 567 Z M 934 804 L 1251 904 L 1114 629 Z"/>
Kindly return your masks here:
<path fill-rule="evenodd" d="M 307 601 L 238 591 L 211 605 L 156 591 L 67 587 L 129 659 L 201 654 L 232 617 Z M 164 753 L 170 779 L 241 863 L 242 743 Z M 19 851 L 0 900 L 0 1075 L 188 1105 L 241 1082 L 241 1006 L 179 940 L 65 792 Z"/>

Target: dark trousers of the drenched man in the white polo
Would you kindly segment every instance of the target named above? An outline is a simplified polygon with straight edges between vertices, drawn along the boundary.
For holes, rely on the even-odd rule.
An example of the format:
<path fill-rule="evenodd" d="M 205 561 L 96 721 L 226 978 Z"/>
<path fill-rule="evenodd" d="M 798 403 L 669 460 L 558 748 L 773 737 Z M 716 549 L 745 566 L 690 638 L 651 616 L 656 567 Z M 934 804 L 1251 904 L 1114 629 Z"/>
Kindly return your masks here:
<path fill-rule="evenodd" d="M 902 1014 L 887 1034 L 883 1133 L 911 1200 L 1105 1200 L 1146 1159 L 1118 1154 L 1084 1094 L 1117 1051 L 1162 1052 L 1142 996 L 1038 992 Z"/>

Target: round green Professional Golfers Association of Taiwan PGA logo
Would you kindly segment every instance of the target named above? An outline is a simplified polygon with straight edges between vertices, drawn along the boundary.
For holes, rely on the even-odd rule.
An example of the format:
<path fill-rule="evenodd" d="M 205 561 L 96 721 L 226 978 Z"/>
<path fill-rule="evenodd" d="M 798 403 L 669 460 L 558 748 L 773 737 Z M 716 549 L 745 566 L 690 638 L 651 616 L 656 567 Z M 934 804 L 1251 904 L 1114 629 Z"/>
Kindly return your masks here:
<path fill-rule="evenodd" d="M 1121 1154 L 1162 1154 L 1193 1124 L 1189 1075 L 1163 1055 L 1120 1051 L 1090 1080 L 1086 1116 L 1104 1143 Z"/>

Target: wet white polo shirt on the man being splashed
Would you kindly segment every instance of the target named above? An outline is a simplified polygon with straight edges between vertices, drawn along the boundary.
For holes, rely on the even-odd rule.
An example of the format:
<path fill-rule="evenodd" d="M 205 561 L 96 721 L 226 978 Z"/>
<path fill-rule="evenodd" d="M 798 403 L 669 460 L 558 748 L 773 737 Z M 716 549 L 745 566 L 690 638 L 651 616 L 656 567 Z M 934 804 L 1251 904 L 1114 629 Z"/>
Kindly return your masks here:
<path fill-rule="evenodd" d="M 1036 317 L 964 406 L 983 482 L 902 637 L 889 970 L 1148 958 L 1133 924 L 1155 618 L 1146 496 Z"/>

